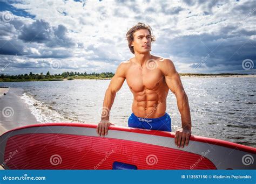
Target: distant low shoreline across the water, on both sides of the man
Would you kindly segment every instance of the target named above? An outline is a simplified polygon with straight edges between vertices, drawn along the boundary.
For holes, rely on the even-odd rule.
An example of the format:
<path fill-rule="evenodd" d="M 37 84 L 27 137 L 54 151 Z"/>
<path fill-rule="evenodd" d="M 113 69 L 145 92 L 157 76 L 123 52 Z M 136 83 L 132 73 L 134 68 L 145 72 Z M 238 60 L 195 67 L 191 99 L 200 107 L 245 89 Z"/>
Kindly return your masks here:
<path fill-rule="evenodd" d="M 180 74 L 181 79 L 193 79 L 193 78 L 211 78 L 211 77 L 256 77 L 254 74 Z M 1 82 L 32 82 L 32 81 L 69 81 L 69 80 L 111 80 L 112 78 L 83 78 L 81 76 L 66 77 L 63 79 L 44 79 L 44 80 L 4 80 L 0 79 Z M 1 87 L 1 86 L 0 86 Z"/>

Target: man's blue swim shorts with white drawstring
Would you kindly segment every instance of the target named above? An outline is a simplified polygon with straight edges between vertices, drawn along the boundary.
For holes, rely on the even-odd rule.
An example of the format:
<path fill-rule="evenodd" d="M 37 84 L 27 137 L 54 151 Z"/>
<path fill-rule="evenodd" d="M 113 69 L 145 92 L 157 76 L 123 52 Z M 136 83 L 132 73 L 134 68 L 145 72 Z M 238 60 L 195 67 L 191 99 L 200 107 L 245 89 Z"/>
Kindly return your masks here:
<path fill-rule="evenodd" d="M 164 116 L 159 118 L 140 118 L 132 113 L 128 119 L 128 126 L 139 129 L 172 131 L 171 117 L 166 112 Z"/>

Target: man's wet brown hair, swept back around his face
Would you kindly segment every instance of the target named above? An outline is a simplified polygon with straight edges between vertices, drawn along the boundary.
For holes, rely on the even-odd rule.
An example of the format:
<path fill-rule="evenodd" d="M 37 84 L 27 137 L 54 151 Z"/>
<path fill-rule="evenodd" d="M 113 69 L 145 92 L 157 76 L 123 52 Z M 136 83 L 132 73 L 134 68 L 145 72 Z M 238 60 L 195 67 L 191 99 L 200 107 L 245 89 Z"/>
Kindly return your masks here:
<path fill-rule="evenodd" d="M 153 31 L 149 25 L 146 25 L 144 23 L 138 23 L 137 25 L 134 25 L 129 31 L 126 33 L 126 39 L 128 41 L 128 46 L 130 48 L 130 51 L 134 54 L 133 46 L 131 46 L 132 41 L 134 40 L 133 34 L 134 32 L 138 30 L 147 30 L 150 33 L 151 41 L 156 41 L 156 38 L 152 35 Z"/>

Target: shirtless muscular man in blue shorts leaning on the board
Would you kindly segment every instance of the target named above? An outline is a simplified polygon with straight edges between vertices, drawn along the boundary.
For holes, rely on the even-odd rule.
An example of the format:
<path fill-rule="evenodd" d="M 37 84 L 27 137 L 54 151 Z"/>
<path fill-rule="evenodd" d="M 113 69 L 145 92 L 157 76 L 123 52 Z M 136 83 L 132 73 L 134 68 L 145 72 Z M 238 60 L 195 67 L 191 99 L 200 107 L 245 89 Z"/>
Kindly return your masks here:
<path fill-rule="evenodd" d="M 155 40 L 150 26 L 138 23 L 127 32 L 126 38 L 135 56 L 121 62 L 110 81 L 104 97 L 102 120 L 97 126 L 98 135 L 107 135 L 109 126 L 113 125 L 109 121 L 110 109 L 126 79 L 134 97 L 129 127 L 171 131 L 171 118 L 166 113 L 166 98 L 170 89 L 177 98 L 182 122 L 182 128 L 175 134 L 175 144 L 178 147 L 187 146 L 191 135 L 190 107 L 173 62 L 150 54 L 151 43 Z"/>

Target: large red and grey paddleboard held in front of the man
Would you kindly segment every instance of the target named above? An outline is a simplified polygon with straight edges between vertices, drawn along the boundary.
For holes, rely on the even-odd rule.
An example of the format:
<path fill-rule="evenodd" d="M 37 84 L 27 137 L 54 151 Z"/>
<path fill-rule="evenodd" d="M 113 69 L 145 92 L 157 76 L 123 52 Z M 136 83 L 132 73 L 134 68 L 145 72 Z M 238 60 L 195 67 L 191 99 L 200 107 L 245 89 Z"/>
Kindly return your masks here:
<path fill-rule="evenodd" d="M 4 169 L 256 169 L 256 148 L 191 136 L 178 148 L 174 133 L 110 126 L 46 123 L 24 126 L 0 137 Z"/>

